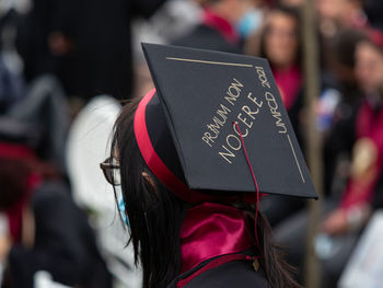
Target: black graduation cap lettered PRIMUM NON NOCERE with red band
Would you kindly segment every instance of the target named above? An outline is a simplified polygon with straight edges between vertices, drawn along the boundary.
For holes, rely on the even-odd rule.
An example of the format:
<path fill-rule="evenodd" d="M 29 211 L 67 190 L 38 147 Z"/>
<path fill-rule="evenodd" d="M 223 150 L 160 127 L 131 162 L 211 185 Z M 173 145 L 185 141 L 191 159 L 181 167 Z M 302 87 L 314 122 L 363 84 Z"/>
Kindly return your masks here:
<path fill-rule="evenodd" d="M 137 108 L 135 134 L 167 188 L 189 203 L 255 195 L 255 184 L 265 194 L 317 198 L 266 59 L 142 47 L 155 90 Z"/>

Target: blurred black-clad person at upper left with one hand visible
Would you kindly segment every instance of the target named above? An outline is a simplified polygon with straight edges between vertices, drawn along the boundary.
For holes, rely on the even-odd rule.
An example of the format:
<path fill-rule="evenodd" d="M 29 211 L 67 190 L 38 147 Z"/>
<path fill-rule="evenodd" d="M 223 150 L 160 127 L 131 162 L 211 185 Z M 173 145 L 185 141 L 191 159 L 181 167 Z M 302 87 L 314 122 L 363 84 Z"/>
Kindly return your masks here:
<path fill-rule="evenodd" d="M 130 22 L 165 0 L 33 0 L 20 20 L 18 47 L 25 76 L 56 74 L 69 95 L 131 96 Z"/>

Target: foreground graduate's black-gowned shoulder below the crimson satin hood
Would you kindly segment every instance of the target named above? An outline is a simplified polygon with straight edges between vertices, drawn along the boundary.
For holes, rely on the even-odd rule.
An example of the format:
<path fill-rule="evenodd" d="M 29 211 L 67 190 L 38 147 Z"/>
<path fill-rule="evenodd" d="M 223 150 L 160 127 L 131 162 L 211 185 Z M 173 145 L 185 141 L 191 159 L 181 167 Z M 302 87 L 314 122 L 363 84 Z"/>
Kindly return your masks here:
<path fill-rule="evenodd" d="M 195 275 L 179 275 L 167 288 L 269 288 L 262 268 L 254 270 L 251 262 L 229 262 Z"/>

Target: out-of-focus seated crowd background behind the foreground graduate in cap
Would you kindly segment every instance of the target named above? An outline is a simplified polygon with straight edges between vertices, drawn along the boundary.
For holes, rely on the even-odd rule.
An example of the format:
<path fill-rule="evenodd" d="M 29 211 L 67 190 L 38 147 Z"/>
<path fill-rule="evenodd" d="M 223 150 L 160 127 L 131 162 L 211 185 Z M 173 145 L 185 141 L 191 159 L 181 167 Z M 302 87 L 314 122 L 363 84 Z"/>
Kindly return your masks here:
<path fill-rule="evenodd" d="M 269 60 L 321 194 L 264 197 L 276 240 L 305 287 L 383 287 L 383 1 L 0 0 L 2 287 L 140 287 L 98 164 L 141 42 Z"/>

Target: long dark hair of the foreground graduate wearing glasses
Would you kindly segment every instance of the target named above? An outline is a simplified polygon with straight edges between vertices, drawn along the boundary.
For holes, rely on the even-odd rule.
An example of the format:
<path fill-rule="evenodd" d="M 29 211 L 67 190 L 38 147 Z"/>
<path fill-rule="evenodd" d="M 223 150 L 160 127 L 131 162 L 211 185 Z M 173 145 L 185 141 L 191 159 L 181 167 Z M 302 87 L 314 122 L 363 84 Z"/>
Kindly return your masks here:
<path fill-rule="evenodd" d="M 143 272 L 143 288 L 166 287 L 181 269 L 179 230 L 192 205 L 164 187 L 147 166 L 136 141 L 134 115 L 140 99 L 123 108 L 114 129 L 112 155 L 121 173 L 121 191 L 130 223 L 130 239 L 136 265 Z M 241 204 L 241 209 L 255 215 L 254 206 Z M 257 233 L 263 251 L 262 263 L 272 288 L 300 287 L 289 273 L 271 240 L 271 228 L 260 216 Z"/>

